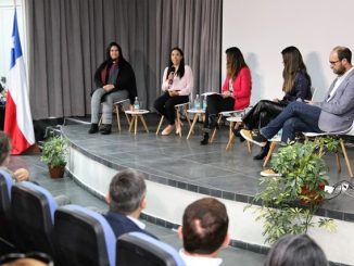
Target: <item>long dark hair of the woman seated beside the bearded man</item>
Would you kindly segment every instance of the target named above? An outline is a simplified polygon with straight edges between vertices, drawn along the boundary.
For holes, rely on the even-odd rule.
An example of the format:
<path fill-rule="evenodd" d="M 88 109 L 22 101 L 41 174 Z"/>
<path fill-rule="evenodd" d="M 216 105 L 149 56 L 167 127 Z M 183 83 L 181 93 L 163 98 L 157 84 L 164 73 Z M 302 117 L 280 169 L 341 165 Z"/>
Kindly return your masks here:
<path fill-rule="evenodd" d="M 281 51 L 282 61 L 283 61 L 283 84 L 282 90 L 285 92 L 290 92 L 295 83 L 296 74 L 303 72 L 308 80 L 308 87 L 311 87 L 311 77 L 307 74 L 306 66 L 302 59 L 301 52 L 296 47 L 287 47 Z"/>

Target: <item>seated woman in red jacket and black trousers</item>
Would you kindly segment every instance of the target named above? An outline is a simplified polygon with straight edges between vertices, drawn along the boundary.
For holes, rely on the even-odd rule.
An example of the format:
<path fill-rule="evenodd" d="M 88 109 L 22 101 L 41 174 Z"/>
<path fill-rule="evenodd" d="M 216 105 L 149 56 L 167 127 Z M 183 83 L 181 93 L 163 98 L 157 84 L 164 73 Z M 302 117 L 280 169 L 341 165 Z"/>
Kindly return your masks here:
<path fill-rule="evenodd" d="M 251 71 L 245 64 L 239 48 L 226 50 L 226 79 L 222 94 L 211 94 L 206 98 L 205 121 L 201 145 L 208 143 L 208 134 L 217 126 L 217 114 L 225 111 L 242 110 L 250 105 Z"/>

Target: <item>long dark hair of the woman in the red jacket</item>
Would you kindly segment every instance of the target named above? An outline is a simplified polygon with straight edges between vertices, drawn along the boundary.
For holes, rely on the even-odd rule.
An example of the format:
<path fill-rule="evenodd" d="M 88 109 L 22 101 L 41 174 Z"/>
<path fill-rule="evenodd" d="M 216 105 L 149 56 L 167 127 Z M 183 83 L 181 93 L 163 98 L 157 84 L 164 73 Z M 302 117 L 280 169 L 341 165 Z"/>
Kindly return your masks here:
<path fill-rule="evenodd" d="M 226 49 L 226 71 L 228 76 L 233 80 L 242 67 L 248 67 L 244 62 L 241 50 L 237 47 Z"/>

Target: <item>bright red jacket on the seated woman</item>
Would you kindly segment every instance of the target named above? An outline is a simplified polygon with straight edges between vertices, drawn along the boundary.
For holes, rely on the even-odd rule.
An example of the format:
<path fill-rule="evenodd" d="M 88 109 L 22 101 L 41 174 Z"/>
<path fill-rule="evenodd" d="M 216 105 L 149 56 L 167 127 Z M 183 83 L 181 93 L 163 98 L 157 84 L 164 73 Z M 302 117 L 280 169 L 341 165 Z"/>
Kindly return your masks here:
<path fill-rule="evenodd" d="M 233 80 L 233 98 L 235 105 L 233 110 L 242 110 L 250 105 L 251 98 L 251 72 L 249 67 L 243 67 L 239 72 L 239 75 Z M 226 76 L 226 79 L 223 85 L 222 92 L 229 90 L 229 77 Z"/>

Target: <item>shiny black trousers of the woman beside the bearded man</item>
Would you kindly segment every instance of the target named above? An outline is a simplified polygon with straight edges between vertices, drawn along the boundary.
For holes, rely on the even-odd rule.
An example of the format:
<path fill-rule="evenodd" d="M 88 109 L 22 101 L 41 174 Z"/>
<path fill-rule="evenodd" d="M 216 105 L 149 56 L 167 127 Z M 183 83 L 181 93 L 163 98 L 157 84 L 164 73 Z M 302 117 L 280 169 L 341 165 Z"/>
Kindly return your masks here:
<path fill-rule="evenodd" d="M 258 101 L 242 118 L 248 129 L 260 129 L 278 116 L 288 104 L 269 100 Z"/>

